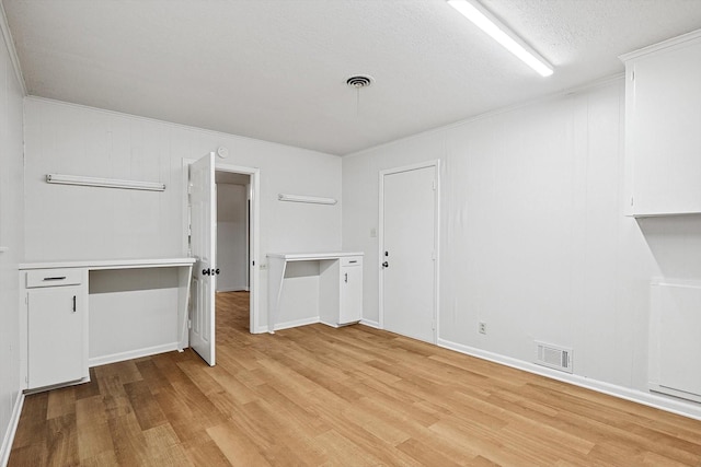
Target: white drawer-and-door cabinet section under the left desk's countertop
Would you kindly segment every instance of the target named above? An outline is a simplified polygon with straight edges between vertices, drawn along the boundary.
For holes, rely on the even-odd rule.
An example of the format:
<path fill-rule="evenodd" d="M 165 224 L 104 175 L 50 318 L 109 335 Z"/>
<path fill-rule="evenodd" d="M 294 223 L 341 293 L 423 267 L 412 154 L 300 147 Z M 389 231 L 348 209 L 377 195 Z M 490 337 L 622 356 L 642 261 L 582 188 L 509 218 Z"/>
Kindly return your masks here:
<path fill-rule="evenodd" d="M 87 380 L 88 283 L 82 269 L 25 276 L 27 389 Z"/>

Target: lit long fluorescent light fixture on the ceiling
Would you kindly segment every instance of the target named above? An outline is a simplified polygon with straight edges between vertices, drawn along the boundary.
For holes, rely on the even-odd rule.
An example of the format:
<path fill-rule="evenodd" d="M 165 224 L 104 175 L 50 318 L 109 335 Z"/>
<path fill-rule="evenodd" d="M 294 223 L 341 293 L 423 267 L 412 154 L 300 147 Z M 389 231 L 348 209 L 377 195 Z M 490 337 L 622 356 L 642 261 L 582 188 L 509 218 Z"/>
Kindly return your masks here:
<path fill-rule="evenodd" d="M 487 33 L 494 40 L 508 51 L 520 58 L 526 65 L 536 70 L 541 77 L 552 74 L 552 66 L 536 50 L 514 34 L 496 16 L 490 13 L 476 0 L 448 0 L 448 4 L 472 21 L 480 30 Z"/>

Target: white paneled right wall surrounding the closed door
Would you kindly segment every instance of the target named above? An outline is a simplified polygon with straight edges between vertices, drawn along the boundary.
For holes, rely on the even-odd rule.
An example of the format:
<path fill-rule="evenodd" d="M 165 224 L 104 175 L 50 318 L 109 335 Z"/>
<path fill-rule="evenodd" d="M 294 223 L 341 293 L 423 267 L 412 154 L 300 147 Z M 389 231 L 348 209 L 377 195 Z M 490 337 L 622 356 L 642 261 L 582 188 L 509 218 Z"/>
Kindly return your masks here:
<path fill-rule="evenodd" d="M 623 100 L 616 80 L 345 156 L 365 319 L 379 320 L 378 172 L 440 159 L 439 343 L 524 367 L 535 339 L 572 347 L 574 380 L 647 397 L 650 281 L 701 278 L 701 222 L 623 215 Z"/>

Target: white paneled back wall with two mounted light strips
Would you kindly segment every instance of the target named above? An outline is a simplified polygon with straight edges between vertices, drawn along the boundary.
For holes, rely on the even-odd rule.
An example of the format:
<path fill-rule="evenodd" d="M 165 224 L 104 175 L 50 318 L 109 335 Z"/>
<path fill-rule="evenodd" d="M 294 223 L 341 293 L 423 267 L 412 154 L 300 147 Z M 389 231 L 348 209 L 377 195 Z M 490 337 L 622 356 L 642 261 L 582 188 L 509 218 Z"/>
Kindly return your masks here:
<path fill-rule="evenodd" d="M 258 265 L 269 252 L 335 250 L 341 246 L 341 203 L 322 207 L 277 200 L 278 192 L 341 198 L 337 156 L 34 97 L 25 100 L 25 114 L 27 261 L 184 256 L 182 160 L 198 159 L 220 145 L 229 149 L 227 164 L 261 171 Z M 156 192 L 49 185 L 45 182 L 49 173 L 162 182 L 166 188 Z M 265 326 L 265 270 L 261 279 L 258 324 Z M 147 304 L 138 301 L 138 294 L 133 296 L 135 305 L 143 307 L 152 301 L 152 313 L 162 312 L 156 306 L 159 293 Z M 95 300 L 100 302 L 96 296 L 91 299 L 91 307 Z M 97 331 L 110 328 L 99 316 L 122 319 L 115 315 L 118 308 L 115 313 L 92 312 L 91 339 L 114 340 L 114 335 Z M 314 311 L 299 306 L 287 307 L 287 313 L 280 322 L 309 318 Z M 168 313 L 156 318 L 169 329 L 173 328 L 171 319 L 175 317 Z M 156 334 L 150 341 L 138 336 L 138 329 L 152 326 L 152 320 L 151 315 L 129 322 L 133 331 L 118 338 L 139 346 L 168 343 Z"/>

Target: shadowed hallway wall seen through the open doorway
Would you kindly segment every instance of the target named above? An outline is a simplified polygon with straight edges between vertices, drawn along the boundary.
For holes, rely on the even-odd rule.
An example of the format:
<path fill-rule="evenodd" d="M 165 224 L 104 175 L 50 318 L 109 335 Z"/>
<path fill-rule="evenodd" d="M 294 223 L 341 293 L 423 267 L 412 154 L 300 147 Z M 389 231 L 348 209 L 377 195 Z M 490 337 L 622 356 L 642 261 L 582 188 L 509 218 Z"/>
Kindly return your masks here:
<path fill-rule="evenodd" d="M 244 185 L 217 184 L 217 291 L 246 290 L 248 191 Z"/>

